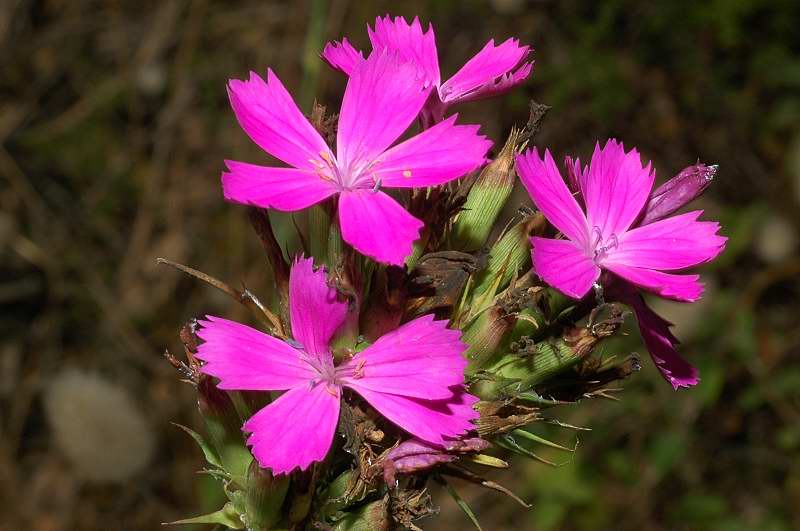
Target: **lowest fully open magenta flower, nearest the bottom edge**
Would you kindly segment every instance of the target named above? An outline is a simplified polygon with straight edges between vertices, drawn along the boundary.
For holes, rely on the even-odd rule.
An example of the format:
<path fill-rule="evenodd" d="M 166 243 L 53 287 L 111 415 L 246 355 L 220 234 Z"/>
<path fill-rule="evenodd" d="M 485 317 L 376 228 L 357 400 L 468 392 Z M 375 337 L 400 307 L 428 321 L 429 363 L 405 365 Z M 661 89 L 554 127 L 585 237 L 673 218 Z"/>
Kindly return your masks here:
<path fill-rule="evenodd" d="M 289 279 L 294 341 L 208 317 L 197 357 L 221 389 L 286 392 L 244 425 L 262 467 L 284 474 L 325 458 L 339 419 L 342 388 L 419 439 L 445 446 L 473 428 L 477 398 L 464 390 L 466 348 L 446 321 L 427 315 L 380 337 L 334 366 L 329 343 L 347 315 L 322 269 L 299 259 Z"/>

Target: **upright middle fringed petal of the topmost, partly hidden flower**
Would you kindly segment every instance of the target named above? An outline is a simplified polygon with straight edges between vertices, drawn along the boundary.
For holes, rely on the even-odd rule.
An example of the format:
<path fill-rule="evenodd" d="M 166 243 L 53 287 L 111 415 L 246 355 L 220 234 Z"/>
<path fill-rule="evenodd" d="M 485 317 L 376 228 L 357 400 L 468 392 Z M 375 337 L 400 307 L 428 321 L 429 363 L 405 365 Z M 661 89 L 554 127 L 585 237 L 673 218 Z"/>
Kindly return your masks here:
<path fill-rule="evenodd" d="M 373 50 L 386 49 L 405 60 L 416 64 L 432 85 L 439 84 L 439 57 L 436 52 L 436 37 L 433 26 L 423 32 L 419 18 L 409 24 L 403 17 L 386 16 L 375 19 L 375 29 L 367 26 Z"/>

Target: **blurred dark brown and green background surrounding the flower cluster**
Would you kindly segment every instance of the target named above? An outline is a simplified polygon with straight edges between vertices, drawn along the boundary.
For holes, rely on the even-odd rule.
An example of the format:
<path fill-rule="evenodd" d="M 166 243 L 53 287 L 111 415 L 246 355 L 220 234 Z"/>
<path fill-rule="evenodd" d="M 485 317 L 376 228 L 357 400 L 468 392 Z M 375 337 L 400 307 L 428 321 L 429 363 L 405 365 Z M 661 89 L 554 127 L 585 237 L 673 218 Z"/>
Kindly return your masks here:
<path fill-rule="evenodd" d="M 584 159 L 613 136 L 660 180 L 720 165 L 699 201 L 727 251 L 694 305 L 661 303 L 702 382 L 674 392 L 649 360 L 621 400 L 548 431 L 574 453 L 492 479 L 532 503 L 456 484 L 484 528 L 800 529 L 800 2 L 409 0 L 0 2 L 0 529 L 156 529 L 219 507 L 194 393 L 164 361 L 189 318 L 246 319 L 164 256 L 265 297 L 225 158 L 263 162 L 225 93 L 272 67 L 304 110 L 338 109 L 318 58 L 379 14 L 436 29 L 443 77 L 490 38 L 535 48 L 530 80 L 461 108 L 502 143 L 531 98 L 537 138 Z M 512 208 L 526 201 L 512 200 Z M 635 333 L 606 348 L 644 352 Z M 209 481 L 211 481 L 209 483 Z M 466 529 L 446 494 L 426 529 Z"/>

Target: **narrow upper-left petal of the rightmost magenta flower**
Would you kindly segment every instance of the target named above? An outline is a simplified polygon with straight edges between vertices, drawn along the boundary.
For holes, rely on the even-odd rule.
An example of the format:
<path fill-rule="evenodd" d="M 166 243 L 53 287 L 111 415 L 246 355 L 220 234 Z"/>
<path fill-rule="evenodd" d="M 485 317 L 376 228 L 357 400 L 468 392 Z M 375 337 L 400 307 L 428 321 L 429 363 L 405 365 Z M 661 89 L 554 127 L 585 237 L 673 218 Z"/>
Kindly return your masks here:
<path fill-rule="evenodd" d="M 586 216 L 564 183 L 550 151 L 545 150 L 544 155 L 542 160 L 535 148 L 517 155 L 520 180 L 548 221 L 567 238 L 588 248 Z"/>

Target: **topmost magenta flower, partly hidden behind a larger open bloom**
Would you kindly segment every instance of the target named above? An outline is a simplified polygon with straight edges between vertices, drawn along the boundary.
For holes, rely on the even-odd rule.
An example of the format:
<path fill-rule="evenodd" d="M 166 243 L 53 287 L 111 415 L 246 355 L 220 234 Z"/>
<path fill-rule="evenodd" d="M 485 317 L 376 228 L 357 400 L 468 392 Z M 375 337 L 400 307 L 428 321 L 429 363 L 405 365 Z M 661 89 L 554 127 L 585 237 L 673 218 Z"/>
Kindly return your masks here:
<path fill-rule="evenodd" d="M 387 49 L 414 61 L 436 86 L 436 91 L 423 110 L 426 124 L 440 122 L 450 105 L 473 101 L 508 92 L 530 75 L 533 62 L 525 62 L 530 47 L 520 46 L 517 39 L 508 39 L 500 45 L 494 40 L 461 67 L 453 77 L 441 82 L 439 59 L 433 27 L 426 32 L 417 17 L 411 24 L 403 17 L 392 20 L 388 15 L 375 19 L 375 29 L 367 26 L 373 50 Z M 322 51 L 322 58 L 331 66 L 352 75 L 364 59 L 345 38 L 342 42 L 330 42 Z"/>

